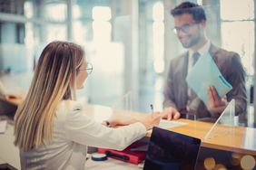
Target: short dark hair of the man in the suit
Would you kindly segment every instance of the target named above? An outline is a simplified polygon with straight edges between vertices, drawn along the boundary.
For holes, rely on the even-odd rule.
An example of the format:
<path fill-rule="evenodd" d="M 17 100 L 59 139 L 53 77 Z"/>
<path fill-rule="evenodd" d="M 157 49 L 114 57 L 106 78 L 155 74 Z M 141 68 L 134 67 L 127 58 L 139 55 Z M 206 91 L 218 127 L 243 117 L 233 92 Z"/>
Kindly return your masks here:
<path fill-rule="evenodd" d="M 174 9 L 172 9 L 171 14 L 173 17 L 181 14 L 192 14 L 195 23 L 206 21 L 206 16 L 202 5 L 197 5 L 191 2 L 183 2 L 182 4 L 176 6 Z"/>

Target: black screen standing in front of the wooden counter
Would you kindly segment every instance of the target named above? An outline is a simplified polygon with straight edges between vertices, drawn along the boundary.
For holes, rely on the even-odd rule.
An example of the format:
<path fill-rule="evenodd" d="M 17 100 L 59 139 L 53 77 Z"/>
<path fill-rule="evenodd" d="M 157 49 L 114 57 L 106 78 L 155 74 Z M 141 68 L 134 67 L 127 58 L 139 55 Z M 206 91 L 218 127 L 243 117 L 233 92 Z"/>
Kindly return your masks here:
<path fill-rule="evenodd" d="M 195 169 L 201 139 L 153 127 L 144 170 Z"/>

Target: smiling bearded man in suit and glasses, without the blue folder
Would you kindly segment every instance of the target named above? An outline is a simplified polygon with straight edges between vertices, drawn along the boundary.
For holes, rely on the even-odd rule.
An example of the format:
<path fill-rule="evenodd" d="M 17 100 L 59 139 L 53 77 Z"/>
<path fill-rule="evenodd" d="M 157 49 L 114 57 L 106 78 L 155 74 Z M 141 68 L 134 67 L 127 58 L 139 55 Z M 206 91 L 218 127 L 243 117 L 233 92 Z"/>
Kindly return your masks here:
<path fill-rule="evenodd" d="M 170 69 L 164 86 L 163 115 L 168 119 L 184 118 L 182 112 L 192 113 L 195 118 L 216 120 L 231 99 L 235 99 L 235 114 L 246 110 L 246 90 L 244 70 L 240 56 L 214 46 L 205 35 L 206 16 L 201 5 L 184 2 L 172 9 L 174 31 L 182 46 L 188 49 L 170 63 Z M 222 76 L 231 84 L 232 90 L 220 98 L 214 87 L 208 89 L 208 101 L 203 103 L 185 80 L 193 64 L 203 54 L 209 52 L 222 72 Z M 191 118 L 194 118 L 191 117 Z"/>

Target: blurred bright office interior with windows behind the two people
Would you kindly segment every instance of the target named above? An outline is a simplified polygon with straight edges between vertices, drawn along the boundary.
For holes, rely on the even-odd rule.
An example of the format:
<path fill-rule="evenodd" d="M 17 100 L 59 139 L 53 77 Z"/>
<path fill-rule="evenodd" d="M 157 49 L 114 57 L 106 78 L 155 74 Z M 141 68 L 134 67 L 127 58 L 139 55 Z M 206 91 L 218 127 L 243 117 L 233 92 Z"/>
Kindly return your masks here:
<path fill-rule="evenodd" d="M 27 90 L 44 46 L 54 40 L 84 47 L 93 74 L 78 92 L 84 102 L 150 112 L 162 109 L 169 61 L 184 49 L 172 32 L 170 10 L 181 0 L 0 0 L 0 71 Z M 246 71 L 253 127 L 254 0 L 198 0 L 208 38 L 238 52 Z M 254 106 L 256 104 L 254 103 Z M 255 108 L 255 107 L 254 107 Z"/>

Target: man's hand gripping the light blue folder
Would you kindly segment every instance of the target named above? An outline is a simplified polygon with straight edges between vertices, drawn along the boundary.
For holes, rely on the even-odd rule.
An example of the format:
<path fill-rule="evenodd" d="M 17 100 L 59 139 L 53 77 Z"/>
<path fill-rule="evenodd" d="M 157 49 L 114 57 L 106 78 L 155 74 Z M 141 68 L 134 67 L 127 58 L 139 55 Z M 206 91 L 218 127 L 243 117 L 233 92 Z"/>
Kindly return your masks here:
<path fill-rule="evenodd" d="M 227 99 L 220 98 L 216 89 L 213 86 L 208 88 L 207 92 L 207 109 L 211 113 L 220 113 L 227 106 Z"/>

